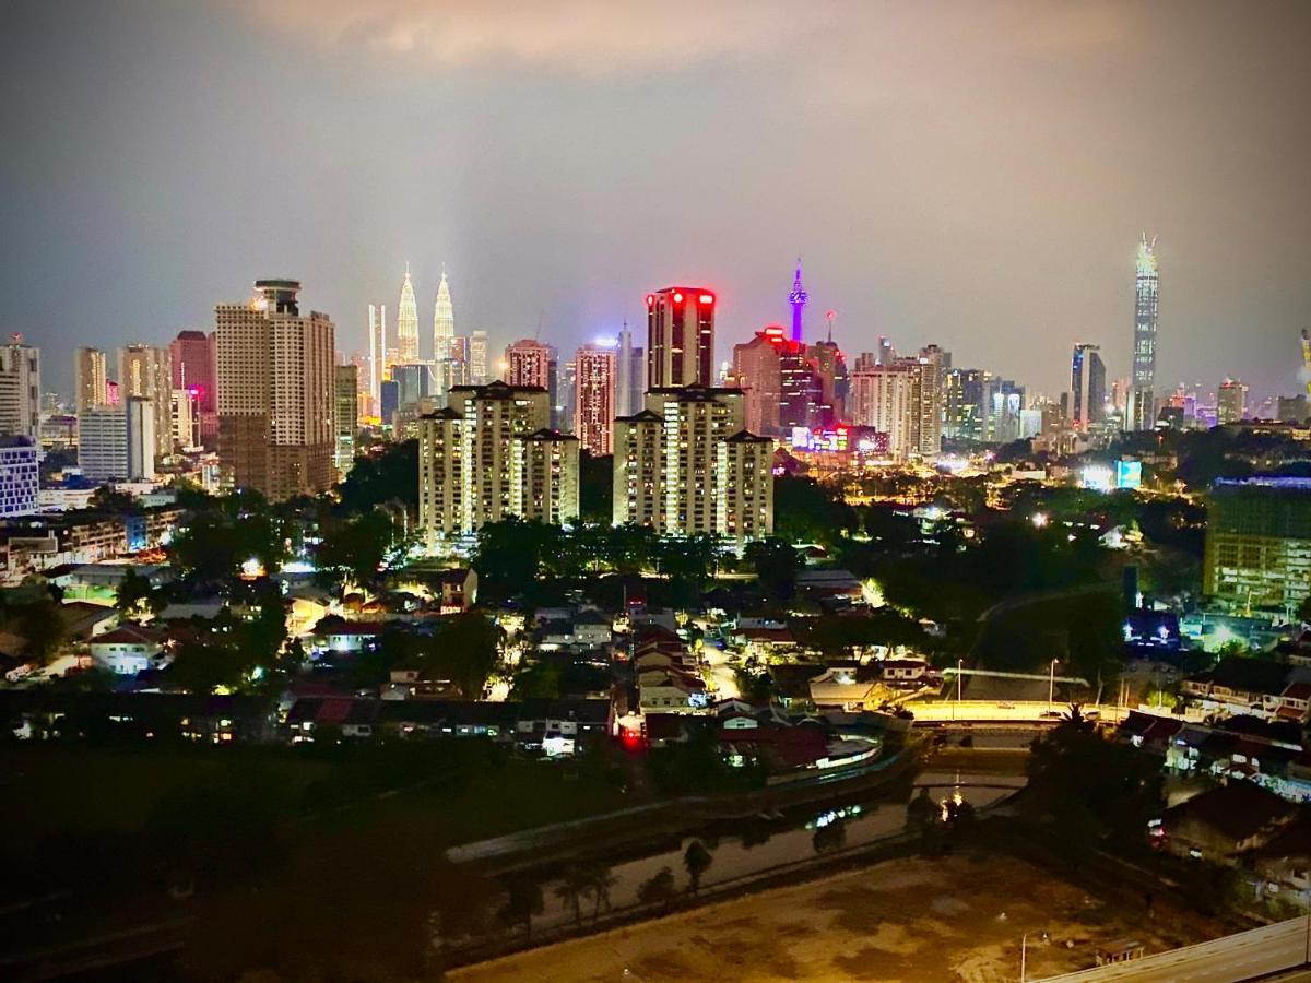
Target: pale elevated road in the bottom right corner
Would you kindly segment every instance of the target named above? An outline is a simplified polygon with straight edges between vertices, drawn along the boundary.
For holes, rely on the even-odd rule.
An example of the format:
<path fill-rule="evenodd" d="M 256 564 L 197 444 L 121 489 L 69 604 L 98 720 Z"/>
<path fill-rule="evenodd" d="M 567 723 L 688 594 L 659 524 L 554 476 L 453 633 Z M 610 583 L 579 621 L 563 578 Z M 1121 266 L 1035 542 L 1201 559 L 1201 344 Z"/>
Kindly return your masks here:
<path fill-rule="evenodd" d="M 1049 983 L 1093 983 L 1133 979 L 1146 983 L 1235 983 L 1295 969 L 1307 962 L 1311 920 L 1299 917 L 1277 921 L 1251 932 L 1240 932 L 1209 942 L 1172 949 L 1145 959 L 1099 966 L 1082 973 L 1049 976 Z M 1298 979 L 1307 974 L 1293 974 Z"/>

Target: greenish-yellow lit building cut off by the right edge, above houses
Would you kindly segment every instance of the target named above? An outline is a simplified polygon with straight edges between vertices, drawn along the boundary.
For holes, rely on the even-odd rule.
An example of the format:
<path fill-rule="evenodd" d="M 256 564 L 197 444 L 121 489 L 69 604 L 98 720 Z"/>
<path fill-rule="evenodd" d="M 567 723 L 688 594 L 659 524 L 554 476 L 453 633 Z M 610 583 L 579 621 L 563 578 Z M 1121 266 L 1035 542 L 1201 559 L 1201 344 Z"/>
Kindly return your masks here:
<path fill-rule="evenodd" d="M 1222 478 L 1206 505 L 1202 592 L 1293 616 L 1311 594 L 1311 478 Z"/>

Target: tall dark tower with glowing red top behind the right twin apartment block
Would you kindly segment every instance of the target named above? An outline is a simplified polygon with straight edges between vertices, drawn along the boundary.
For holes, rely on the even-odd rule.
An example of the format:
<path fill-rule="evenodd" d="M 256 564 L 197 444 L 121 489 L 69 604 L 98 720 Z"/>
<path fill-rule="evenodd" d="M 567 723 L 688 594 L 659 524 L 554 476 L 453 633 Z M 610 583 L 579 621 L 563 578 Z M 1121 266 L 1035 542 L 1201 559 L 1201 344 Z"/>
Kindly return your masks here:
<path fill-rule="evenodd" d="M 704 287 L 648 294 L 646 341 L 648 388 L 713 385 L 714 295 Z"/>

